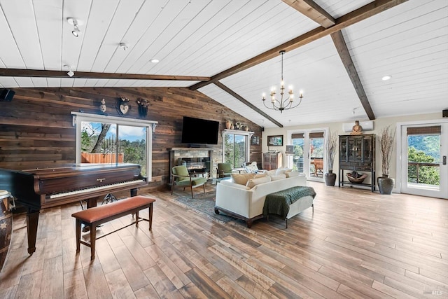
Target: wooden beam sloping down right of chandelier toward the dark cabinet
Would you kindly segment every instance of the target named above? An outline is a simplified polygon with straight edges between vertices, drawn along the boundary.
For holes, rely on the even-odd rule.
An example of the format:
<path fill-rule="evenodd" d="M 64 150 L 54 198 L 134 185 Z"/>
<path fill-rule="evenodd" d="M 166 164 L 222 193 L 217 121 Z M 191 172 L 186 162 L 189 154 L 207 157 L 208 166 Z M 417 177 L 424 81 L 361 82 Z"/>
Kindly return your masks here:
<path fill-rule="evenodd" d="M 332 33 L 331 38 L 333 40 L 333 43 L 335 43 L 337 53 L 339 53 L 339 57 L 341 57 L 342 64 L 344 64 L 347 74 L 349 74 L 351 83 L 353 84 L 353 87 L 355 88 L 356 93 L 358 94 L 358 97 L 360 99 L 361 104 L 363 105 L 365 113 L 367 113 L 367 116 L 369 117 L 370 120 L 374 120 L 375 116 L 372 111 L 372 107 L 370 106 L 369 99 L 367 99 L 367 95 L 365 94 L 365 90 L 363 88 L 363 83 L 361 83 L 361 80 L 358 76 L 358 71 L 356 71 L 355 64 L 351 59 L 349 48 L 347 48 L 342 32 L 338 31 Z"/>

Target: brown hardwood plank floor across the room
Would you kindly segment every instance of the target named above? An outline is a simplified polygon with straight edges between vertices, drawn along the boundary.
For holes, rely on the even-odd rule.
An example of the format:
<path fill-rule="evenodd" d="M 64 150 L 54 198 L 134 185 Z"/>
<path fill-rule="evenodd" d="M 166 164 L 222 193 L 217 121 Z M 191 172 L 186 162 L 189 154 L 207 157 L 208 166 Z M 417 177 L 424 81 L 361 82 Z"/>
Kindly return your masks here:
<path fill-rule="evenodd" d="M 220 223 L 176 204 L 188 190 L 147 193 L 153 231 L 143 221 L 99 239 L 92 262 L 87 246 L 75 252 L 79 204 L 41 212 L 32 256 L 15 215 L 0 298 L 448 298 L 448 200 L 309 186 L 314 214 L 288 229 Z"/>

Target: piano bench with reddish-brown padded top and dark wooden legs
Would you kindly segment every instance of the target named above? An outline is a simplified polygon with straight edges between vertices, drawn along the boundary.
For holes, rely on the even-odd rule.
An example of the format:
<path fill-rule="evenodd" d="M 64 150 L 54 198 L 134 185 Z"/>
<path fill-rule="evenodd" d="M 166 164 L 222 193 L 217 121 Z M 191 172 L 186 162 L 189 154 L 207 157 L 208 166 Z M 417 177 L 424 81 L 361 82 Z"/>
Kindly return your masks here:
<path fill-rule="evenodd" d="M 76 218 L 76 253 L 80 251 L 80 244 L 90 247 L 90 260 L 95 258 L 95 241 L 106 235 L 110 235 L 113 232 L 127 228 L 135 223 L 135 226 L 139 226 L 139 221 L 145 220 L 149 222 L 149 230 L 153 226 L 153 202 L 155 199 L 145 196 L 133 196 L 124 200 L 118 200 L 118 202 L 112 202 L 110 204 L 104 204 L 99 207 L 92 207 L 83 211 L 77 211 L 71 214 L 73 218 Z M 149 209 L 149 218 L 139 217 L 139 211 L 142 209 Z M 97 237 L 97 225 L 109 222 L 113 219 L 120 218 L 129 214 L 135 214 L 135 222 L 125 225 L 123 228 L 113 230 L 105 235 Z M 85 225 L 90 229 L 90 242 L 81 240 L 81 225 Z"/>

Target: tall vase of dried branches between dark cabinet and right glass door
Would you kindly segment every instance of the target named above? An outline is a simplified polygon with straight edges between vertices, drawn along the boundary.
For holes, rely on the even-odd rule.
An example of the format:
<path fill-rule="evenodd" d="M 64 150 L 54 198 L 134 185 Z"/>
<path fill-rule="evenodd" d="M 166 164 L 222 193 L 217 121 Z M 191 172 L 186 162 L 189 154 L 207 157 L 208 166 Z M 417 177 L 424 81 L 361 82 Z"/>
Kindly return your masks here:
<path fill-rule="evenodd" d="M 377 179 L 379 193 L 392 194 L 395 180 L 389 178 L 389 167 L 391 166 L 395 130 L 392 130 L 390 125 L 384 127 L 381 129 L 381 134 L 379 134 L 378 139 L 379 153 L 381 153 L 381 171 L 383 172 L 383 175 Z"/>

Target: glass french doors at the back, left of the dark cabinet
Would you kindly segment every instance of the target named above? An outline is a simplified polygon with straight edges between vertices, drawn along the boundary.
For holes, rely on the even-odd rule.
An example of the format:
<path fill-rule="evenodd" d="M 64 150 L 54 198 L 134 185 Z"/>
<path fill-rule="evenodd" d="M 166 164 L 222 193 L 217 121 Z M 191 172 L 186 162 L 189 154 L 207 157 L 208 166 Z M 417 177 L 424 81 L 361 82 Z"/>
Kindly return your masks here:
<path fill-rule="evenodd" d="M 290 144 L 294 146 L 288 167 L 307 175 L 311 181 L 323 181 L 323 131 L 292 132 Z"/>

